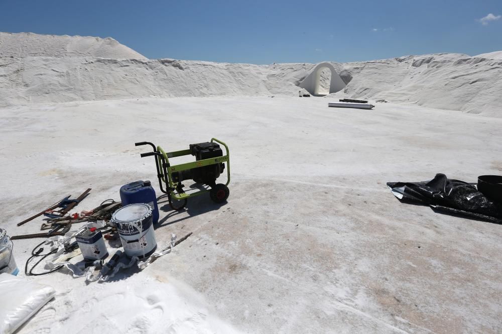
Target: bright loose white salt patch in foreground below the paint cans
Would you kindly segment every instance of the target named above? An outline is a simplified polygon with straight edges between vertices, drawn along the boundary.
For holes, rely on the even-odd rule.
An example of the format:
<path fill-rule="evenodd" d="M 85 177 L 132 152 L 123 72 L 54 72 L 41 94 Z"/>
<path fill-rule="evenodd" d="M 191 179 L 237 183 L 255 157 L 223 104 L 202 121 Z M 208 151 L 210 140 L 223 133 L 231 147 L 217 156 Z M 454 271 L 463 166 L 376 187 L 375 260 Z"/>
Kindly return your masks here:
<path fill-rule="evenodd" d="M 191 287 L 149 270 L 108 284 L 60 284 L 20 332 L 235 333 Z"/>

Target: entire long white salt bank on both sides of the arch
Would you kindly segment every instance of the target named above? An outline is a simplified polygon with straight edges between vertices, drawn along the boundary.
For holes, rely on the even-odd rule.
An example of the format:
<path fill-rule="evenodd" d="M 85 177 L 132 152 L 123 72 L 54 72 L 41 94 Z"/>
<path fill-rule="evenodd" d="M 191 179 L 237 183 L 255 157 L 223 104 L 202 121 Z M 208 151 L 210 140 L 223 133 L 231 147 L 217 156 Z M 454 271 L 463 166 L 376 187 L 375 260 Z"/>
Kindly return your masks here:
<path fill-rule="evenodd" d="M 502 52 L 331 63 L 347 86 L 330 98 L 384 99 L 502 117 L 497 55 Z M 139 97 L 297 96 L 314 67 L 148 60 L 109 38 L 0 33 L 0 107 Z"/>

